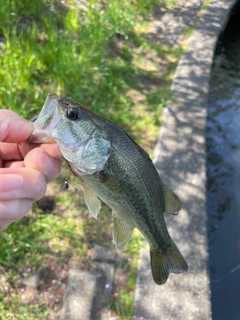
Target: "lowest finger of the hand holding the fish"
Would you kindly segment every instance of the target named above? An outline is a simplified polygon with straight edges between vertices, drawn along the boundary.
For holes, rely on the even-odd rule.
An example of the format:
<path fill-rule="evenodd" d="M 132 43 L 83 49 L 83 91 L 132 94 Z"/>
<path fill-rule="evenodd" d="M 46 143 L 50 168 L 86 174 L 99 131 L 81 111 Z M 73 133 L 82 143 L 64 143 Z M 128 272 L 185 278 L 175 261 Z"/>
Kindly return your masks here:
<path fill-rule="evenodd" d="M 0 201 L 0 231 L 20 220 L 32 207 L 30 199 Z"/>

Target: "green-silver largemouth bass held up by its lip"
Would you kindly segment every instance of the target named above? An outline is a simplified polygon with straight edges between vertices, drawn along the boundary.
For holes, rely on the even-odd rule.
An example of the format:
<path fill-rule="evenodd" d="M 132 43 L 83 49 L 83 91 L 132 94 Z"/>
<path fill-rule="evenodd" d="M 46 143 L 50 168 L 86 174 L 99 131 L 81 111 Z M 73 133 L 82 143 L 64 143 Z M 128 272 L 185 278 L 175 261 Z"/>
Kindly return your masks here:
<path fill-rule="evenodd" d="M 181 201 L 162 182 L 148 153 L 123 129 L 69 97 L 49 94 L 29 141 L 58 144 L 83 185 L 94 218 L 102 202 L 110 207 L 118 249 L 127 246 L 135 228 L 142 233 L 156 284 L 164 284 L 170 273 L 187 271 L 164 220 L 165 213 L 178 214 Z"/>

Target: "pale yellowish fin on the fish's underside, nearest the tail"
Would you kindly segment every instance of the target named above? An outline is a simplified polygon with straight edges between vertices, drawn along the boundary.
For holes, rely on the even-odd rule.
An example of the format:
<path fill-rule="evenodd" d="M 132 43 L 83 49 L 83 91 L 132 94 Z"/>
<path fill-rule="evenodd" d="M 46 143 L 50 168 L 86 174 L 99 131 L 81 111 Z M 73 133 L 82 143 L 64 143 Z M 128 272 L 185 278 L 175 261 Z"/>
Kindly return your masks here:
<path fill-rule="evenodd" d="M 113 212 L 113 242 L 118 249 L 123 250 L 126 247 L 132 236 L 133 229 L 129 223 Z"/>

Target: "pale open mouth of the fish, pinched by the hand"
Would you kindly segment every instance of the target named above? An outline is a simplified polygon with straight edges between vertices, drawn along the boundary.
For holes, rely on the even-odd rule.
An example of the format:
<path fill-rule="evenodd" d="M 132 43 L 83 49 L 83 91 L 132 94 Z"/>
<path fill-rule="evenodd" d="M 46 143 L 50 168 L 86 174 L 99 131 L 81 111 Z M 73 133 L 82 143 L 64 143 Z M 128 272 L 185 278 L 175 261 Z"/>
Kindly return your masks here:
<path fill-rule="evenodd" d="M 55 140 L 51 136 L 52 129 L 60 120 L 58 112 L 59 97 L 55 94 L 48 94 L 42 110 L 34 121 L 34 129 L 28 141 L 31 143 L 54 143 Z"/>

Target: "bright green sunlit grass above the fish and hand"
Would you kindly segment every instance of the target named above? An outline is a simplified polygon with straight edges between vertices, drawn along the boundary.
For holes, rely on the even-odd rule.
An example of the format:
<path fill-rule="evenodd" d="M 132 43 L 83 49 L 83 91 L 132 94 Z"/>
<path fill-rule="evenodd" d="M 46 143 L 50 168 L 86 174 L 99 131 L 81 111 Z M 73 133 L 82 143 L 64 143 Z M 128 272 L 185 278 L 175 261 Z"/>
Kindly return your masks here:
<path fill-rule="evenodd" d="M 23 4 L 12 2 L 12 10 L 5 6 L 6 22 L 2 22 L 4 37 L 0 59 L 0 101 L 2 108 L 12 109 L 30 118 L 37 113 L 49 92 L 67 95 L 124 125 L 137 137 L 143 127 L 134 113 L 134 102 L 127 91 L 139 88 L 139 76 L 147 66 L 134 61 L 144 61 L 148 54 L 174 55 L 162 50 L 160 45 L 141 37 L 135 28 L 140 13 L 146 13 L 157 1 L 111 1 L 99 9 L 98 2 L 90 1 L 86 10 L 74 10 L 30 2 L 23 15 Z M 11 11 L 9 13 L 9 11 Z M 80 17 L 80 18 L 79 18 Z M 112 56 L 113 52 L 117 53 Z M 145 51 L 145 52 L 144 52 Z M 145 59 L 146 65 L 149 65 Z M 149 77 L 161 75 L 150 70 Z M 155 71 L 155 73 L 154 73 Z M 164 76 L 164 75 L 163 75 Z M 161 97 L 160 97 L 161 99 Z M 146 106 L 148 106 L 146 101 Z M 150 105 L 151 106 L 151 105 Z M 149 115 L 159 117 L 159 109 Z M 151 128 L 150 128 L 151 130 Z"/>

